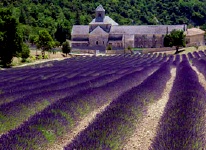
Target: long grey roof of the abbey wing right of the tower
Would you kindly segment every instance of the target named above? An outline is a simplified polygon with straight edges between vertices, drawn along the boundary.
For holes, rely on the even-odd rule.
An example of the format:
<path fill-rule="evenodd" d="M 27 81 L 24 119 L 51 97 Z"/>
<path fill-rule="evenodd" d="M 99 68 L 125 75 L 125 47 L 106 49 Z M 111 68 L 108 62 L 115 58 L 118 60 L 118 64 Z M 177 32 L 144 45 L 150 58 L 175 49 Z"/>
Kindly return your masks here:
<path fill-rule="evenodd" d="M 166 34 L 172 30 L 184 30 L 184 25 L 112 26 L 111 34 Z"/>

